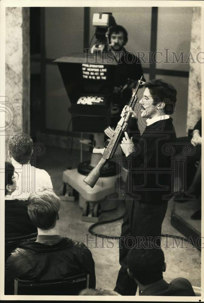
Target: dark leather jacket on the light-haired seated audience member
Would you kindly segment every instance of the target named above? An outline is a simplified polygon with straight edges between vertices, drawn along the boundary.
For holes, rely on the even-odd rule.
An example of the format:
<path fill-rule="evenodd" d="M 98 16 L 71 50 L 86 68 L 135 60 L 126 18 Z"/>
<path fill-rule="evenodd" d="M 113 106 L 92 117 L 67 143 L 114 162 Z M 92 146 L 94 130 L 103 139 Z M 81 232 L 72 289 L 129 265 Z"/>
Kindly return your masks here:
<path fill-rule="evenodd" d="M 29 281 L 63 279 L 87 272 L 89 288 L 96 287 L 95 264 L 90 250 L 82 242 L 62 238 L 46 245 L 29 241 L 18 245 L 5 264 L 5 283 L 15 278 Z"/>

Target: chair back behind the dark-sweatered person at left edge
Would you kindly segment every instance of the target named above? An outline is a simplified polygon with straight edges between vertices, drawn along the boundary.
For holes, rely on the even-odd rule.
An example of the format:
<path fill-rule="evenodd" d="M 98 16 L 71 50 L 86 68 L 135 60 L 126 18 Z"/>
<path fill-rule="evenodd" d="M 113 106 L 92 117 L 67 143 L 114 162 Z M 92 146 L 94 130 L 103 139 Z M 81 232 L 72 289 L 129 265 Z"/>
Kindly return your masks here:
<path fill-rule="evenodd" d="M 5 238 L 5 262 L 8 259 L 11 251 L 18 247 L 18 245 L 22 242 L 26 241 L 36 241 L 37 239 L 37 232 L 30 235 L 24 235 L 21 237 L 14 237 L 14 238 Z"/>

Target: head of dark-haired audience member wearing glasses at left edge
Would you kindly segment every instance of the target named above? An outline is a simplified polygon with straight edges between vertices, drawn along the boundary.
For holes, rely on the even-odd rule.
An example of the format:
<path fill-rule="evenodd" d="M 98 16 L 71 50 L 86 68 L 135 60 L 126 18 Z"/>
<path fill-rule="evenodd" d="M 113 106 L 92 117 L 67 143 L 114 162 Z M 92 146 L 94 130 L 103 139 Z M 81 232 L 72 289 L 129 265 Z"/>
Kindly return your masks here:
<path fill-rule="evenodd" d="M 14 171 L 11 162 L 5 162 L 5 195 L 11 195 L 16 189 L 18 174 Z"/>

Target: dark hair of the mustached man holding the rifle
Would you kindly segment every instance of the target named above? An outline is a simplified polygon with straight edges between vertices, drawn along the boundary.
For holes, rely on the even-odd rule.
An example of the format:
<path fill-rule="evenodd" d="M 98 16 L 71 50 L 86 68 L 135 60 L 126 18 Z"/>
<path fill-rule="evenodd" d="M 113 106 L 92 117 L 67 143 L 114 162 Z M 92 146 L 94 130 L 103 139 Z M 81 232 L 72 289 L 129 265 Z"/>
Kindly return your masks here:
<path fill-rule="evenodd" d="M 144 84 L 149 88 L 155 104 L 164 102 L 165 114 L 173 114 L 176 105 L 176 89 L 162 79 L 153 79 Z"/>

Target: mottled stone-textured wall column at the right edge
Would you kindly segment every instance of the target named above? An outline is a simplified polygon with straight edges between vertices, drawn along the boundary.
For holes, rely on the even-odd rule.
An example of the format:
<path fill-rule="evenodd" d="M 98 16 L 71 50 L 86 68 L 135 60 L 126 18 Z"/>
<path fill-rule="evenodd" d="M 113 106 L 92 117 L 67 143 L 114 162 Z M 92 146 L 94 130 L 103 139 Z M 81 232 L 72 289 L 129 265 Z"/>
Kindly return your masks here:
<path fill-rule="evenodd" d="M 196 61 L 196 55 L 201 52 L 201 8 L 193 8 L 190 52 Z M 203 56 L 203 55 L 202 55 Z M 202 62 L 202 56 L 199 61 Z M 190 60 L 191 62 L 191 60 Z M 193 128 L 201 117 L 201 63 L 190 63 L 188 87 L 187 130 Z"/>

